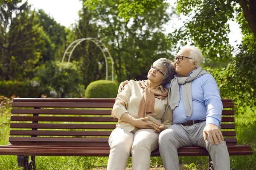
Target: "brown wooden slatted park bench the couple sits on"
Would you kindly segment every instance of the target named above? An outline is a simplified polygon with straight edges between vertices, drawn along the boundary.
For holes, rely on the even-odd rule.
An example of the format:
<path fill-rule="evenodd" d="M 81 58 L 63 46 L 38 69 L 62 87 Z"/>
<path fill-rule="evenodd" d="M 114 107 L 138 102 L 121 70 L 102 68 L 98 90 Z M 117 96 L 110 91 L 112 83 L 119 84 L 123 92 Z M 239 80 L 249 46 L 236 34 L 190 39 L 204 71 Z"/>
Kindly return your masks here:
<path fill-rule="evenodd" d="M 108 137 L 116 127 L 111 117 L 115 99 L 15 98 L 12 102 L 9 144 L 1 155 L 17 155 L 24 170 L 35 170 L 35 156 L 109 156 Z M 232 99 L 222 99 L 233 108 Z M 234 111 L 223 110 L 222 133 L 231 155 L 252 155 L 248 145 L 238 145 Z M 227 131 L 229 130 L 229 131 Z M 179 156 L 209 156 L 202 147 L 183 147 Z M 31 161 L 29 160 L 31 156 Z M 151 156 L 160 156 L 154 150 Z M 209 157 L 209 165 L 211 159 Z M 212 167 L 210 167 L 212 168 Z"/>

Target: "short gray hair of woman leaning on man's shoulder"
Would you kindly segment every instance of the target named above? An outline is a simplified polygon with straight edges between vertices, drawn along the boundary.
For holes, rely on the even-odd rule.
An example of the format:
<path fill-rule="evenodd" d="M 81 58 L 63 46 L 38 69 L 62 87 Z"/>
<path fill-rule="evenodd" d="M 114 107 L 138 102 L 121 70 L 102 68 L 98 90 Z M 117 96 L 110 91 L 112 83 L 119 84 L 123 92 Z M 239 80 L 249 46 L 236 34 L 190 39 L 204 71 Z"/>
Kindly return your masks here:
<path fill-rule="evenodd" d="M 175 75 L 175 68 L 174 68 L 174 63 L 166 58 L 160 58 L 157 59 L 153 65 L 155 67 L 157 67 L 158 69 L 165 69 L 165 72 L 163 73 L 163 80 L 162 80 L 162 84 L 166 84 L 169 82 L 169 80 L 174 78 Z"/>

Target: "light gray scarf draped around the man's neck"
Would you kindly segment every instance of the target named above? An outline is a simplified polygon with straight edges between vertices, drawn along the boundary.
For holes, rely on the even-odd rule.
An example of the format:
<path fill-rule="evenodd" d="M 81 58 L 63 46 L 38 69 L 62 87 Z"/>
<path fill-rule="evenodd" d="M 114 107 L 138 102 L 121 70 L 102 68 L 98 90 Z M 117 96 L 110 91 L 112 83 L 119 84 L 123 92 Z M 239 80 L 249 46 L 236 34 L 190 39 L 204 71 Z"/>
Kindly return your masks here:
<path fill-rule="evenodd" d="M 201 77 L 206 74 L 207 71 L 203 68 L 198 67 L 195 69 L 189 77 L 175 77 L 171 81 L 171 86 L 168 94 L 169 105 L 172 110 L 175 110 L 179 106 L 180 102 L 180 90 L 179 85 L 182 88 L 182 98 L 185 107 L 186 116 L 191 116 L 192 114 L 192 91 L 191 91 L 191 81 Z"/>

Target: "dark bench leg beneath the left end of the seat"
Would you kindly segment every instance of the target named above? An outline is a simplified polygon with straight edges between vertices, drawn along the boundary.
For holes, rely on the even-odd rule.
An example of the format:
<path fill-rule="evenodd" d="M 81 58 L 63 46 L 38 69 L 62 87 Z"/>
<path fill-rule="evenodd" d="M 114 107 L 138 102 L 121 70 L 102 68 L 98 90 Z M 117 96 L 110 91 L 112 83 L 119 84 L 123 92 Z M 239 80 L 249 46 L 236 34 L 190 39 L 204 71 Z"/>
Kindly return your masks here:
<path fill-rule="evenodd" d="M 18 166 L 23 167 L 23 170 L 36 170 L 35 168 L 35 156 L 31 156 L 31 161 L 29 161 L 29 156 L 17 156 Z"/>

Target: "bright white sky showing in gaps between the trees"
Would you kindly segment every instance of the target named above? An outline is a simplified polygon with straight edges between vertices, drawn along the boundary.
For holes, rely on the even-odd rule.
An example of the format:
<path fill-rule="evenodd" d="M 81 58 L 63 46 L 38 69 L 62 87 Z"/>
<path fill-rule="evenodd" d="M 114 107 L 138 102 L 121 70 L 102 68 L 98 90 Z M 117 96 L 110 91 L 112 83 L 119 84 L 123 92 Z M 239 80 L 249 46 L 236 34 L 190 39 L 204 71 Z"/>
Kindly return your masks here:
<path fill-rule="evenodd" d="M 166 1 L 174 6 L 176 0 Z M 78 11 L 82 8 L 82 2 L 79 0 L 28 0 L 28 2 L 32 4 L 32 8 L 44 9 L 47 14 L 65 27 L 69 27 L 72 23 L 78 21 Z M 169 21 L 164 26 L 166 28 L 166 34 L 174 31 L 175 28 L 180 28 L 183 25 L 183 20 L 185 20 L 185 17 L 181 16 L 181 20 L 173 19 Z M 241 43 L 241 29 L 235 22 L 230 21 L 229 23 L 231 32 L 228 37 L 230 44 L 235 46 Z"/>

